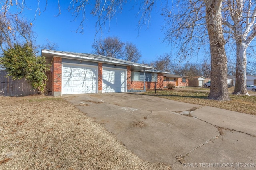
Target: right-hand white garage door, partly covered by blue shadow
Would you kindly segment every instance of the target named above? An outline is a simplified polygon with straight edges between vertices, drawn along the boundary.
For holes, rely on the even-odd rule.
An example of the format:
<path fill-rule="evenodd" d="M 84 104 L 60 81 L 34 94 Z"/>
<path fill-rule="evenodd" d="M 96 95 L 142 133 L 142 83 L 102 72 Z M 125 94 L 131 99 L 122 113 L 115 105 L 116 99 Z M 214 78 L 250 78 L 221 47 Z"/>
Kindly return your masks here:
<path fill-rule="evenodd" d="M 103 67 L 102 92 L 126 92 L 126 69 Z"/>

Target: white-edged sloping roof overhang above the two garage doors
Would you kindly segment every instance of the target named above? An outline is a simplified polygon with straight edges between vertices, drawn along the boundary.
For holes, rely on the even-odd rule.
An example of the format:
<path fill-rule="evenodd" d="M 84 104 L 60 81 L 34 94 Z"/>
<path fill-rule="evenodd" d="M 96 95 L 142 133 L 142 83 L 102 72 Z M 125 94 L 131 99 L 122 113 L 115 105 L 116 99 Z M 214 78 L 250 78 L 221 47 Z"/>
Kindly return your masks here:
<path fill-rule="evenodd" d="M 64 51 L 42 50 L 41 55 L 45 57 L 46 64 L 51 64 L 53 57 L 75 59 L 81 61 L 92 61 L 99 63 L 108 63 L 114 65 L 131 66 L 131 70 L 154 69 L 152 66 L 134 63 L 126 60 L 115 59 L 102 55 L 86 54 L 86 53 L 73 53 Z"/>

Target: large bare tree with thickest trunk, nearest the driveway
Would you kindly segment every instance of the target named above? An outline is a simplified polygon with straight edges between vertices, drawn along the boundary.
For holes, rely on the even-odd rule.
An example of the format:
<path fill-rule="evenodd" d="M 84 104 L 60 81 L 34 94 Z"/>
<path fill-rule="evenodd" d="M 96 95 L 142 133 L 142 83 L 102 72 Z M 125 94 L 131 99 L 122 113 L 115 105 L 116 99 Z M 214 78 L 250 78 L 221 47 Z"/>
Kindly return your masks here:
<path fill-rule="evenodd" d="M 211 89 L 209 99 L 230 100 L 227 88 L 227 57 L 222 32 L 222 0 L 176 1 L 172 10 L 166 10 L 166 39 L 178 47 L 178 55 L 190 57 L 210 42 Z M 174 8 L 177 7 L 177 8 Z M 174 38 L 173 38 L 174 37 Z"/>

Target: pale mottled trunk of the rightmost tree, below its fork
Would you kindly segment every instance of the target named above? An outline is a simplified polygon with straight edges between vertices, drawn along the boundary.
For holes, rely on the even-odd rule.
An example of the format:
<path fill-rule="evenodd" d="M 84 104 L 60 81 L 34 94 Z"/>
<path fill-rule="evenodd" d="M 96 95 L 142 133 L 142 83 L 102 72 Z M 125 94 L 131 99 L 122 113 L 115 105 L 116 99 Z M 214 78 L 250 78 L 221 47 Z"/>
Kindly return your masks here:
<path fill-rule="evenodd" d="M 246 43 L 236 40 L 236 84 L 232 94 L 249 95 L 246 89 Z"/>

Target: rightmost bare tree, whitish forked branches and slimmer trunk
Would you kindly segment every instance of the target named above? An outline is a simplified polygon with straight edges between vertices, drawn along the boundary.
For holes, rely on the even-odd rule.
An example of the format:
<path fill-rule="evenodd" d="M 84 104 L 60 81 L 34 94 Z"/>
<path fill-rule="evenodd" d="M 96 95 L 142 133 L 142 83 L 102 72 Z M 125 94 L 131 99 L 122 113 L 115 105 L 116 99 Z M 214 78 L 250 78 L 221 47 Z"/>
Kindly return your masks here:
<path fill-rule="evenodd" d="M 256 2 L 224 0 L 222 23 L 236 41 L 236 84 L 233 94 L 249 95 L 246 90 L 247 48 L 256 36 Z"/>

